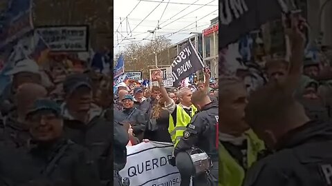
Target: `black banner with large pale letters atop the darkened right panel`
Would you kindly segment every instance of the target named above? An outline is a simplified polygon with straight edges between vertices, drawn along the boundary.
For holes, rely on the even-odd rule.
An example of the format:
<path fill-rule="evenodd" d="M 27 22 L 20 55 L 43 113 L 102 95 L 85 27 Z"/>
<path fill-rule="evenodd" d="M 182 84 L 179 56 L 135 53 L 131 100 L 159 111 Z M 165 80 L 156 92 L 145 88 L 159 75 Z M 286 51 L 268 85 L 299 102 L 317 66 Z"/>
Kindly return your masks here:
<path fill-rule="evenodd" d="M 219 50 L 267 21 L 279 19 L 282 0 L 220 0 Z"/>

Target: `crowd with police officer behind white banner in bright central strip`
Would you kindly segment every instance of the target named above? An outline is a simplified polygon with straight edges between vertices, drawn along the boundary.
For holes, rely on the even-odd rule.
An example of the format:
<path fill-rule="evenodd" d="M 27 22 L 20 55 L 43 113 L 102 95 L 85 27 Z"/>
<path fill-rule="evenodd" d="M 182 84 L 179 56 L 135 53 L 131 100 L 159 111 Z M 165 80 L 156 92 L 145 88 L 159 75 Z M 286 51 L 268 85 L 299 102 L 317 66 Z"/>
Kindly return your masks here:
<path fill-rule="evenodd" d="M 214 171 L 196 177 L 193 183 L 207 185 L 210 181 L 216 185 L 218 83 L 210 81 L 210 70 L 205 69 L 204 82 L 165 87 L 160 73 L 157 70 L 154 74 L 158 86 L 119 83 L 114 99 L 114 121 L 128 131 L 127 146 L 147 141 L 173 143 L 174 158 L 171 165 L 180 170 L 181 185 L 189 185 L 192 175 L 186 175 L 190 165 L 183 165 L 190 159 L 181 155 L 178 158 L 178 154 L 199 147 L 208 156 L 214 156 Z M 189 126 L 192 126 L 191 129 Z"/>

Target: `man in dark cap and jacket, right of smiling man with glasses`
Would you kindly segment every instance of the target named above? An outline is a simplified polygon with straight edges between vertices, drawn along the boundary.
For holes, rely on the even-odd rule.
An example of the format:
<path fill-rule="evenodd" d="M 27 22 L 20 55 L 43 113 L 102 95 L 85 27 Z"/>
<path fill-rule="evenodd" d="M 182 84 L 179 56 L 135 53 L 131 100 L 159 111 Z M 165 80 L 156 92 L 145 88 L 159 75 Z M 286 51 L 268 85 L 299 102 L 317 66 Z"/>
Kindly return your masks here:
<path fill-rule="evenodd" d="M 102 110 L 93 104 L 91 80 L 86 74 L 71 74 L 63 85 L 65 102 L 62 105 L 64 134 L 75 143 L 88 148 L 98 161 L 102 183 L 110 183 L 113 177 L 107 166 L 111 161 L 113 125 L 102 116 Z M 120 140 L 120 139 L 118 139 Z M 103 160 L 107 160 L 105 163 Z M 102 163 L 103 162 L 103 163 Z M 104 171 L 105 170 L 105 171 Z"/>

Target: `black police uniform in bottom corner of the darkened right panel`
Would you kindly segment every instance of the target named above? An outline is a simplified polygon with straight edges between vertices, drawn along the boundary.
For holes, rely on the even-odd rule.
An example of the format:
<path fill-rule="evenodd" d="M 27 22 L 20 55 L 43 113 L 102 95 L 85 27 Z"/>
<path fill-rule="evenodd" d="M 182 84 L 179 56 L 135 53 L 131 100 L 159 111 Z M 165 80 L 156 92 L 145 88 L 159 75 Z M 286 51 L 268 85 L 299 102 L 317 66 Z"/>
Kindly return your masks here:
<path fill-rule="evenodd" d="M 274 154 L 253 165 L 243 185 L 331 185 L 331 147 L 331 123 L 308 122 L 288 132 Z"/>

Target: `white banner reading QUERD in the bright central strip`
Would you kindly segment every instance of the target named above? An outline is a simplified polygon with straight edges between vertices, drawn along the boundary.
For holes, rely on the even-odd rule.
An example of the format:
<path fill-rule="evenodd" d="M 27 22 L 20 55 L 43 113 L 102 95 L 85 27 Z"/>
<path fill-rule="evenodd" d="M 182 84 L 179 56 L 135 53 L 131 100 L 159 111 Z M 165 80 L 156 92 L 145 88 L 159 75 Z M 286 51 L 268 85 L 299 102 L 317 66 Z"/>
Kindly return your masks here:
<path fill-rule="evenodd" d="M 127 147 L 127 164 L 119 174 L 131 186 L 179 186 L 178 169 L 169 164 L 173 149 L 171 143 L 152 141 Z"/>

